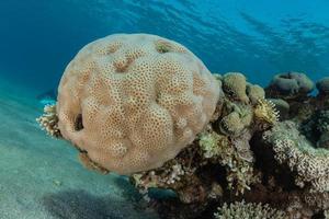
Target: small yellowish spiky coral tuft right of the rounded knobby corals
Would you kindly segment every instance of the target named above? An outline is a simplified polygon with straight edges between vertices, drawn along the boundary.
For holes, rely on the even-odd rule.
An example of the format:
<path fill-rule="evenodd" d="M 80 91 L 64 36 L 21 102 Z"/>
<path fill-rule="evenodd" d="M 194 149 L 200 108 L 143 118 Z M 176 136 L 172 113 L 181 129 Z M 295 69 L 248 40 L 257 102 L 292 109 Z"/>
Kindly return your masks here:
<path fill-rule="evenodd" d="M 275 110 L 275 104 L 265 99 L 258 100 L 253 113 L 256 119 L 270 125 L 273 125 L 279 120 L 279 112 Z"/>

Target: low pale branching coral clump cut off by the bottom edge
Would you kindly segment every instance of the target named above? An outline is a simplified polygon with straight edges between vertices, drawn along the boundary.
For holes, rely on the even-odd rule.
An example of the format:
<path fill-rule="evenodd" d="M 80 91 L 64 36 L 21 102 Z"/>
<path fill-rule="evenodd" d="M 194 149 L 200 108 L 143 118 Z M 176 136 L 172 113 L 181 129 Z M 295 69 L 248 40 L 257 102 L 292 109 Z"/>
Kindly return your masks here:
<path fill-rule="evenodd" d="M 215 212 L 216 219 L 288 219 L 288 216 L 282 211 L 271 208 L 269 205 L 236 201 L 218 208 Z"/>

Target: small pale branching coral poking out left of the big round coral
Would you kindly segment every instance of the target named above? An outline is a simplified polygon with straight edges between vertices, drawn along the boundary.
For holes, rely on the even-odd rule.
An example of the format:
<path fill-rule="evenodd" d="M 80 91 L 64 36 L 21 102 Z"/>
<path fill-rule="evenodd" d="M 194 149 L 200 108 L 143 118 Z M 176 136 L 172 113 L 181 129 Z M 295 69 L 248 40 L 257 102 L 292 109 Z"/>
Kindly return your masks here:
<path fill-rule="evenodd" d="M 56 112 L 56 104 L 45 105 L 44 114 L 36 118 L 43 130 L 45 130 L 49 136 L 55 138 L 60 138 L 60 130 L 58 129 L 58 116 Z"/>

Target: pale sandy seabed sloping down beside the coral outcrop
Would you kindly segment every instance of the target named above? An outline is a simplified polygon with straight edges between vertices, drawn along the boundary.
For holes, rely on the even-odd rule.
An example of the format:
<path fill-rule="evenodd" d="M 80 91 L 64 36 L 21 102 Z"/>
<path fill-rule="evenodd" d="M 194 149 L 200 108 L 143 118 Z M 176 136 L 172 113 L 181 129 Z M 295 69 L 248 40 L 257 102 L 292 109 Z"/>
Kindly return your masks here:
<path fill-rule="evenodd" d="M 46 136 L 41 114 L 37 100 L 0 84 L 0 219 L 158 218 L 125 177 L 86 170 L 68 142 Z"/>

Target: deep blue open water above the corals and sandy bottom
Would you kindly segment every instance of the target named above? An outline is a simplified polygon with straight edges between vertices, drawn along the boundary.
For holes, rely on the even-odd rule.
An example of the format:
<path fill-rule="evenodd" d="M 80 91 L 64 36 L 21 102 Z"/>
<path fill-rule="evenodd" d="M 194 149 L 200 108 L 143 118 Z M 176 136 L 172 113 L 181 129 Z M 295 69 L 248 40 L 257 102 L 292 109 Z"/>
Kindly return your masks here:
<path fill-rule="evenodd" d="M 42 92 L 87 43 L 143 32 L 185 45 L 213 72 L 317 80 L 329 74 L 328 11 L 327 0 L 1 0 L 0 76 Z"/>

